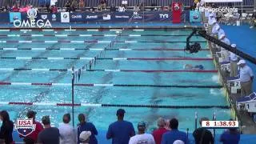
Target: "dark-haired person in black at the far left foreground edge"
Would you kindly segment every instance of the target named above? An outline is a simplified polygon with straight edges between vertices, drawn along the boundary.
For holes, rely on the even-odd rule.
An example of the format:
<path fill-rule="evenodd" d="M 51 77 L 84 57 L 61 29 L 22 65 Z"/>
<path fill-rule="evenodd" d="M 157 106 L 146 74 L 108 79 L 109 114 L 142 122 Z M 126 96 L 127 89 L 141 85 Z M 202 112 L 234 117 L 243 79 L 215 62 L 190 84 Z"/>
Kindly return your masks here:
<path fill-rule="evenodd" d="M 10 144 L 13 142 L 14 122 L 10 121 L 9 114 L 6 110 L 2 110 L 0 112 L 0 119 L 2 121 L 0 139 L 2 139 L 6 144 Z"/>

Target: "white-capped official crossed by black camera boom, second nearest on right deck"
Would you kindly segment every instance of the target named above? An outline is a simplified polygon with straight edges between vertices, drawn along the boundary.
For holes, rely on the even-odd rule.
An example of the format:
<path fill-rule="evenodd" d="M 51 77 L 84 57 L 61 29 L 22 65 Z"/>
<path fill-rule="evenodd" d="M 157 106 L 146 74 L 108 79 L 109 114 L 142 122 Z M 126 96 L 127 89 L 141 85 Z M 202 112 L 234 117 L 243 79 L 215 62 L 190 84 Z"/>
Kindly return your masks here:
<path fill-rule="evenodd" d="M 231 47 L 236 49 L 236 44 L 232 44 Z M 230 52 L 230 77 L 238 75 L 238 55 Z"/>

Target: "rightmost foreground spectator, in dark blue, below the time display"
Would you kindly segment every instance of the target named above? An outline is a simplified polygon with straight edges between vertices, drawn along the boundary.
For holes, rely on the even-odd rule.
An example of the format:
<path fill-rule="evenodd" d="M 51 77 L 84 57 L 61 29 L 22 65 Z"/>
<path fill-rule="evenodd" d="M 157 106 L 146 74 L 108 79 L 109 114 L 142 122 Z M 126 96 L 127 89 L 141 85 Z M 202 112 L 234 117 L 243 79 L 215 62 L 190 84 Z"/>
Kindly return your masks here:
<path fill-rule="evenodd" d="M 232 119 L 230 121 L 233 121 Z M 240 141 L 240 134 L 237 128 L 230 128 L 223 132 L 220 142 L 223 144 L 238 144 Z"/>

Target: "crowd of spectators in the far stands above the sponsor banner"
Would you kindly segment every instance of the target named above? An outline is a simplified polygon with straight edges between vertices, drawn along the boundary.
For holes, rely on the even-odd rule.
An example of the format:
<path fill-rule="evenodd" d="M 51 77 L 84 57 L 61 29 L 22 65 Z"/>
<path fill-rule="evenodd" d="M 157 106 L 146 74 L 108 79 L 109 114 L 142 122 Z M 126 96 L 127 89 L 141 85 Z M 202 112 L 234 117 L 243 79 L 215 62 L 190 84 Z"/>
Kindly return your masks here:
<path fill-rule="evenodd" d="M 68 0 L 66 1 L 65 5 L 63 8 L 58 8 L 56 6 L 57 4 L 57 0 L 56 2 L 51 2 L 50 0 L 44 1 L 44 0 L 39 0 L 38 2 L 38 7 L 34 8 L 36 10 L 38 10 L 39 12 L 51 12 L 51 13 L 56 13 L 56 12 L 64 12 L 64 11 L 69 11 L 69 12 L 74 12 L 74 11 L 85 11 L 85 10 L 89 10 L 89 11 L 102 11 L 102 10 L 110 10 L 110 11 L 119 11 L 119 12 L 124 12 L 126 10 L 134 10 L 135 12 L 138 12 L 140 10 L 145 10 L 145 7 L 143 6 L 142 3 L 139 3 L 138 5 L 135 5 L 133 7 L 129 7 L 127 6 L 127 2 L 128 1 L 122 1 L 122 5 L 121 6 L 114 6 L 114 3 L 111 3 L 110 6 L 107 6 L 107 2 L 106 0 L 101 0 L 98 3 L 98 6 L 95 7 L 85 7 L 86 6 L 86 0 Z M 149 10 L 168 10 L 171 11 L 172 6 L 155 6 L 153 4 Z M 0 11 L 6 12 L 6 11 L 11 11 L 11 12 L 26 12 L 27 10 L 30 9 L 30 7 L 32 7 L 32 5 L 30 4 L 26 4 L 23 5 L 22 3 L 20 3 L 19 1 L 15 2 L 13 6 L 4 6 L 2 8 L 0 8 Z"/>

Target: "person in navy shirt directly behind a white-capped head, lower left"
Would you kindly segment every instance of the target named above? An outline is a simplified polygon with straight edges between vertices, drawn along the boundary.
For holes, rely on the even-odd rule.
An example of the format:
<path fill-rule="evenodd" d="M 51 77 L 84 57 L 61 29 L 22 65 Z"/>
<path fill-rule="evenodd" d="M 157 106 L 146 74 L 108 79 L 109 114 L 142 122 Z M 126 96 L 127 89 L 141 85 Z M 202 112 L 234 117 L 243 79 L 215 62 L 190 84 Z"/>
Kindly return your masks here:
<path fill-rule="evenodd" d="M 97 138 L 95 135 L 98 135 L 98 131 L 96 130 L 95 126 L 91 122 L 86 122 L 86 115 L 85 114 L 79 114 L 78 115 L 78 121 L 80 122 L 78 124 L 78 143 L 79 141 L 79 136 L 83 131 L 90 131 L 90 144 L 97 144 Z"/>

